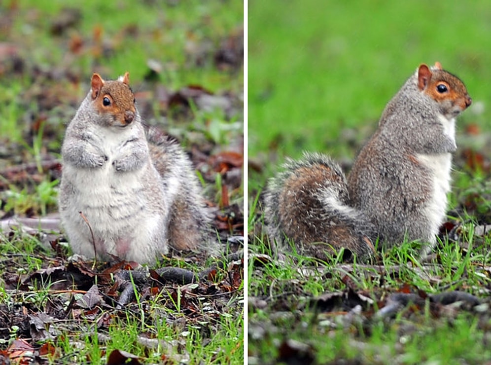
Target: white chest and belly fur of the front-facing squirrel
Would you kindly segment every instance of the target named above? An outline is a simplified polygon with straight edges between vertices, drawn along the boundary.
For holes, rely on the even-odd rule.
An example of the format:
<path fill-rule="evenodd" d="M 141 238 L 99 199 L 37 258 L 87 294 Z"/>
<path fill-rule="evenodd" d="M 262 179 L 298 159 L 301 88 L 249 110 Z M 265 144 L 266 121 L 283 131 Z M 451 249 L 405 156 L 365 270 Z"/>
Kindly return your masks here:
<path fill-rule="evenodd" d="M 144 186 L 144 175 L 151 171 L 156 181 L 160 181 L 160 176 L 153 166 L 116 172 L 112 161 L 118 157 L 122 136 L 109 133 L 101 139 L 104 139 L 102 146 L 108 156 L 103 167 L 81 169 L 70 164 L 63 167 L 64 179 L 70 177 L 66 183 L 77 190 L 70 194 L 66 210 L 62 212 L 70 245 L 75 253 L 94 256 L 90 230 L 78 213 L 82 212 L 92 228 L 100 257 L 110 258 L 110 254 L 138 262 L 152 261 L 156 253 L 167 253 L 167 244 L 163 241 L 167 235 L 164 222 L 168 209 L 163 198 L 145 190 L 148 186 Z M 162 197 L 163 186 L 160 185 Z M 149 209 L 149 199 L 160 201 L 158 209 Z"/>

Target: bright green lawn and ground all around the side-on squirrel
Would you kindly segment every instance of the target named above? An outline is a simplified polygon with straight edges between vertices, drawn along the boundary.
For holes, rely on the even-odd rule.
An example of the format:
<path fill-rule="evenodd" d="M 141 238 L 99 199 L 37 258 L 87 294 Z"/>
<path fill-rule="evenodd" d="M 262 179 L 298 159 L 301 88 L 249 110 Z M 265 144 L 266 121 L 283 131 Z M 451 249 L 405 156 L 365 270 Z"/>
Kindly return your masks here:
<path fill-rule="evenodd" d="M 250 363 L 490 359 L 490 13 L 487 1 L 249 1 Z M 322 151 L 348 171 L 388 100 L 421 63 L 435 61 L 465 82 L 473 105 L 457 122 L 447 219 L 455 229 L 442 233 L 433 259 L 420 262 L 411 243 L 376 267 L 277 258 L 258 194 L 279 164 Z M 435 296 L 453 291 L 480 304 L 449 307 Z M 416 295 L 417 305 L 378 317 L 399 292 Z"/>

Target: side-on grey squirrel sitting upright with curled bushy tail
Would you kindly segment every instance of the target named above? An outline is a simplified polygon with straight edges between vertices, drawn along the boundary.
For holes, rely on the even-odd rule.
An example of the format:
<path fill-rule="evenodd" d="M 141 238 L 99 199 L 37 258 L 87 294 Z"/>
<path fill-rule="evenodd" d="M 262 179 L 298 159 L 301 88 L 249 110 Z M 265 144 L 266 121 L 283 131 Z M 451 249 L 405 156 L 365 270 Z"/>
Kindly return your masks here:
<path fill-rule="evenodd" d="M 463 82 L 440 63 L 421 65 L 387 104 L 348 179 L 328 156 L 288 159 L 265 191 L 271 237 L 299 253 L 367 261 L 375 245 L 436 243 L 450 191 L 455 118 L 471 105 Z"/>

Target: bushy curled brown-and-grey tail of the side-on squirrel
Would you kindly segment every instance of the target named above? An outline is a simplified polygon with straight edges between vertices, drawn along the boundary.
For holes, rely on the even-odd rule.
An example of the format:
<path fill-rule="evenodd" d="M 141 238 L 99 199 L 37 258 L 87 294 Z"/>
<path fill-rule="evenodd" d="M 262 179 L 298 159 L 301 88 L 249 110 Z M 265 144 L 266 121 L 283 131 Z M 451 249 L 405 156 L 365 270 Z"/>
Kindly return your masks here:
<path fill-rule="evenodd" d="M 374 254 L 375 230 L 349 205 L 345 175 L 328 156 L 305 152 L 288 159 L 264 199 L 269 234 L 278 242 L 292 240 L 301 253 L 319 258 L 341 248 L 362 260 Z"/>

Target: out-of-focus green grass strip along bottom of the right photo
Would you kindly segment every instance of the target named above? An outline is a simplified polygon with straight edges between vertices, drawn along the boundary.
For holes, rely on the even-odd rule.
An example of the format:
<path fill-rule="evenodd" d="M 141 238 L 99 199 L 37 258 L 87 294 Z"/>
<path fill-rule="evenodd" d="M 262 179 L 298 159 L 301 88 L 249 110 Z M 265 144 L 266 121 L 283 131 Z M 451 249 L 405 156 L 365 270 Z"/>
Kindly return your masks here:
<path fill-rule="evenodd" d="M 266 318 L 264 321 L 269 322 Z M 303 331 L 293 330 L 299 341 L 313 339 L 312 347 L 318 351 L 316 361 L 321 364 L 335 364 L 336 361 L 355 364 L 476 364 L 489 358 L 486 339 L 481 331 L 476 332 L 476 320 L 461 316 L 452 323 L 433 323 L 425 318 L 421 321 L 426 322 L 426 326 L 409 335 L 399 333 L 404 326 L 411 326 L 407 321 L 397 321 L 392 326 L 376 324 L 368 341 L 363 334 L 359 339 L 352 338 L 356 328 L 333 330 L 319 326 L 314 330 L 310 327 Z M 456 337 L 448 336 L 449 331 L 456 333 Z M 459 340 L 455 341 L 455 338 Z M 277 342 L 263 343 L 261 350 L 269 355 L 263 358 L 263 362 L 278 356 Z M 249 360 L 249 364 L 254 363 Z"/>

